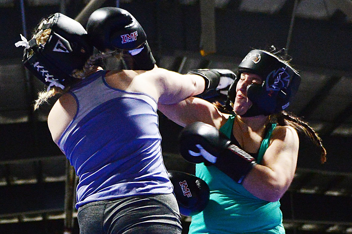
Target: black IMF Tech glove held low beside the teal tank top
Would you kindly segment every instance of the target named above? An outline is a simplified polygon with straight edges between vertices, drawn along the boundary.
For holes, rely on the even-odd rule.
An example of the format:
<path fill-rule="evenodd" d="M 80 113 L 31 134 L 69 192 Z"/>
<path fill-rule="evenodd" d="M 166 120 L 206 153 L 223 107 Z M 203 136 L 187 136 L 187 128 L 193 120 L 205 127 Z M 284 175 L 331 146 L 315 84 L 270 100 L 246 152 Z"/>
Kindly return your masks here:
<path fill-rule="evenodd" d="M 193 216 L 203 211 L 210 197 L 208 184 L 201 178 L 182 171 L 169 170 L 168 173 L 180 213 Z"/>

